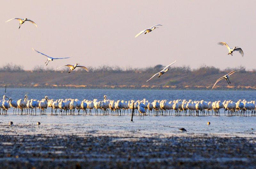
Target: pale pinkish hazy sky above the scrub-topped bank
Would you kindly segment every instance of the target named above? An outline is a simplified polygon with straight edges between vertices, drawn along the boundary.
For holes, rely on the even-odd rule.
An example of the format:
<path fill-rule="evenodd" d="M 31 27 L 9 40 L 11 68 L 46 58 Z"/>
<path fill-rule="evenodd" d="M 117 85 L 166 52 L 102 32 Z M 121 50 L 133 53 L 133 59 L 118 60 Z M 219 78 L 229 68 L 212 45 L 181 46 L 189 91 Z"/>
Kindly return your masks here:
<path fill-rule="evenodd" d="M 1 62 L 43 65 L 46 57 L 71 56 L 48 66 L 80 63 L 84 66 L 147 67 L 202 65 L 256 68 L 255 1 L 1 1 Z M 29 18 L 38 28 L 11 18 Z M 137 38 L 156 24 L 159 29 Z M 224 46 L 239 46 L 244 57 L 227 55 Z M 48 67 L 47 66 L 47 67 Z"/>

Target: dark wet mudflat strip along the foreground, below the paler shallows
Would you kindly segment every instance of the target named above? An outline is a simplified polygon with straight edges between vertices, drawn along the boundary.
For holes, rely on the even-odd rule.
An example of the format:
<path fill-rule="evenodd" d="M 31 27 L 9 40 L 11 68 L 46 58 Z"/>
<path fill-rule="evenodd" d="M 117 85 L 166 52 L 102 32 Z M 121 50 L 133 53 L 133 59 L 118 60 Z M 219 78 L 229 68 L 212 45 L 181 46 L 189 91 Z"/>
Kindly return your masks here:
<path fill-rule="evenodd" d="M 0 142 L 1 168 L 254 168 L 256 166 L 256 138 L 131 138 L 38 134 L 0 135 Z"/>

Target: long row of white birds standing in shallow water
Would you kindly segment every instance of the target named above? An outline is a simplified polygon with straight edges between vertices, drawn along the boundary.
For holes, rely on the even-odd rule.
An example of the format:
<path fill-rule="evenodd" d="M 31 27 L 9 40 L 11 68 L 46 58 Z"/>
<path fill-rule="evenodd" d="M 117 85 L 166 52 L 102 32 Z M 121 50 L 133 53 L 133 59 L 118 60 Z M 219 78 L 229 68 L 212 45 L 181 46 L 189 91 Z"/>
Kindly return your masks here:
<path fill-rule="evenodd" d="M 8 99 L 6 99 L 8 98 Z M 95 115 L 127 115 L 132 114 L 132 109 L 135 110 L 134 115 L 137 115 L 137 111 L 140 116 L 144 115 L 162 115 L 172 116 L 205 116 L 210 115 L 210 111 L 214 112 L 214 115 L 220 115 L 220 109 L 224 109 L 225 115 L 226 111 L 228 116 L 255 116 L 256 101 L 246 101 L 238 100 L 233 102 L 231 100 L 225 100 L 224 102 L 205 102 L 201 101 L 186 101 L 186 100 L 154 100 L 154 102 L 149 102 L 147 99 L 143 100 L 109 100 L 107 95 L 104 95 L 103 100 L 78 100 L 78 99 L 49 99 L 45 96 L 42 100 L 29 99 L 28 95 L 25 95 L 24 99 L 19 99 L 17 102 L 11 97 L 3 96 L 2 101 L 0 101 L 0 110 L 2 114 L 7 115 L 7 110 L 13 108 L 13 114 L 31 114 L 36 115 L 36 109 L 39 109 L 41 115 L 46 114 L 46 109 L 51 108 L 51 114 L 55 115 L 75 115 L 75 110 L 77 110 L 78 115 L 80 110 L 83 111 L 83 115 L 92 115 L 92 110 L 94 109 Z M 87 111 L 88 110 L 88 111 Z M 130 111 L 129 111 L 130 110 Z M 14 112 L 15 111 L 15 112 Z"/>

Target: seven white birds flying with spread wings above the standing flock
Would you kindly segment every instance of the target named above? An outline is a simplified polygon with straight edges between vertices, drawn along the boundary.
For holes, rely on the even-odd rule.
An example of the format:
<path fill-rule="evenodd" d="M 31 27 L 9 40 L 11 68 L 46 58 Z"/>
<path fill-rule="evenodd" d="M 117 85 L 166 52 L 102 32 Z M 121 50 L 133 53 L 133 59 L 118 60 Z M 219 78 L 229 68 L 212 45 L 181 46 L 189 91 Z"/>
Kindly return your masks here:
<path fill-rule="evenodd" d="M 21 18 L 12 18 L 12 19 L 7 20 L 6 22 L 9 22 L 9 21 L 14 20 L 14 19 L 17 19 L 17 20 L 19 20 L 19 22 L 20 22 L 19 29 L 20 29 L 20 26 L 21 26 L 22 24 L 24 24 L 26 21 L 28 21 L 28 22 L 30 22 L 30 23 L 36 25 L 36 23 L 35 23 L 34 21 L 32 21 L 32 20 L 30 20 L 30 19 L 28 19 L 28 18 L 25 18 L 25 19 L 21 19 Z M 163 25 L 158 24 L 158 25 L 151 26 L 150 28 L 145 29 L 145 30 L 141 31 L 140 33 L 138 33 L 138 34 L 135 36 L 135 38 L 138 37 L 138 36 L 140 36 L 140 35 L 143 34 L 143 33 L 146 34 L 146 33 L 152 32 L 153 30 L 155 30 L 156 28 L 158 28 L 157 26 L 163 26 Z M 37 25 L 36 25 L 36 27 L 37 27 Z M 226 42 L 219 42 L 218 44 L 219 44 L 219 45 L 222 45 L 222 46 L 226 46 L 226 47 L 228 48 L 228 55 L 232 55 L 232 56 L 233 56 L 233 52 L 238 51 L 242 56 L 244 56 L 243 50 L 242 50 L 241 48 L 237 47 L 237 46 L 235 46 L 234 48 L 230 48 Z M 32 48 L 32 49 L 33 49 L 33 48 Z M 70 58 L 70 57 L 53 58 L 53 57 L 50 57 L 50 56 L 48 56 L 48 55 L 46 55 L 46 54 L 44 54 L 44 53 L 41 53 L 41 52 L 35 50 L 35 49 L 33 49 L 33 50 L 36 51 L 37 53 L 40 53 L 40 54 L 42 54 L 42 55 L 44 55 L 44 56 L 47 57 L 47 60 L 46 60 L 46 62 L 45 62 L 45 63 L 46 63 L 46 66 L 48 65 L 48 63 L 49 63 L 50 61 L 57 60 L 57 59 L 68 59 L 68 58 Z M 71 57 L 72 57 L 72 56 L 71 56 Z M 47 62 L 48 62 L 48 63 L 47 63 Z M 174 64 L 175 62 L 176 62 L 176 60 L 175 60 L 173 63 L 171 63 L 170 65 L 166 66 L 166 67 L 165 67 L 163 70 L 161 70 L 160 72 L 154 74 L 150 79 L 147 80 L 147 82 L 148 82 L 149 80 L 151 80 L 151 79 L 152 79 L 154 76 L 156 76 L 157 74 L 158 74 L 158 77 L 160 77 L 161 75 L 163 75 L 164 73 L 166 73 L 166 72 L 169 70 L 169 67 L 170 67 L 172 64 Z M 86 68 L 86 67 L 84 67 L 84 66 L 78 66 L 78 65 L 79 65 L 78 63 L 76 63 L 75 65 L 69 65 L 69 64 L 67 64 L 67 65 L 63 65 L 63 66 L 61 66 L 61 67 L 64 67 L 64 66 L 69 67 L 69 72 L 68 72 L 68 73 L 70 73 L 71 71 L 73 71 L 74 69 L 76 69 L 76 67 L 83 68 L 84 70 L 86 70 L 87 72 L 89 72 L 88 68 Z M 58 67 L 58 68 L 60 68 L 60 67 Z M 215 82 L 215 84 L 213 85 L 212 88 L 214 88 L 214 86 L 215 86 L 221 79 L 225 79 L 225 80 L 228 82 L 228 84 L 230 84 L 229 76 L 230 76 L 231 74 L 237 72 L 237 71 L 239 71 L 239 70 L 234 70 L 234 71 L 230 72 L 229 74 L 226 74 L 226 75 L 224 75 L 223 77 L 221 77 L 220 79 L 218 79 L 218 80 Z"/>

